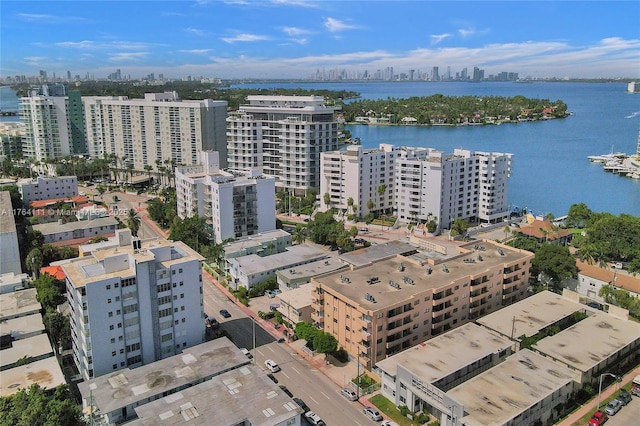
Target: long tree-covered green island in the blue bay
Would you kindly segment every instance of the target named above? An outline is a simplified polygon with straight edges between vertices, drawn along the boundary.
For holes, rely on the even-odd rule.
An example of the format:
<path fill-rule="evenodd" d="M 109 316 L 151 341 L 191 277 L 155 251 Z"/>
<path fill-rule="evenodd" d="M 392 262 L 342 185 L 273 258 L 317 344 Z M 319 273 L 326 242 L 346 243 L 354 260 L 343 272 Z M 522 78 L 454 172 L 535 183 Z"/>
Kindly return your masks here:
<path fill-rule="evenodd" d="M 444 96 L 362 99 L 342 107 L 345 123 L 413 126 L 476 126 L 565 118 L 561 101 L 524 96 Z"/>

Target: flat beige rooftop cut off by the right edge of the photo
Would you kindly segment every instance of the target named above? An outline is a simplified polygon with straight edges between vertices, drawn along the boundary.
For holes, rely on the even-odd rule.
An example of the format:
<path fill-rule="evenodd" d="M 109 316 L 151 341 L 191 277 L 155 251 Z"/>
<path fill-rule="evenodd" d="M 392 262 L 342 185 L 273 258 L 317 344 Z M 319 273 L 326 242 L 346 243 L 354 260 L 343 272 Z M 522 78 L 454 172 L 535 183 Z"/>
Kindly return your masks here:
<path fill-rule="evenodd" d="M 540 340 L 535 350 L 586 372 L 638 340 L 640 324 L 598 312 Z"/>

